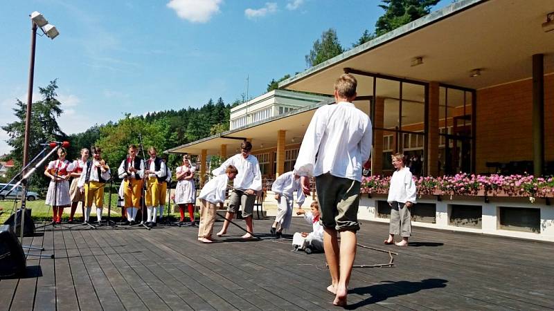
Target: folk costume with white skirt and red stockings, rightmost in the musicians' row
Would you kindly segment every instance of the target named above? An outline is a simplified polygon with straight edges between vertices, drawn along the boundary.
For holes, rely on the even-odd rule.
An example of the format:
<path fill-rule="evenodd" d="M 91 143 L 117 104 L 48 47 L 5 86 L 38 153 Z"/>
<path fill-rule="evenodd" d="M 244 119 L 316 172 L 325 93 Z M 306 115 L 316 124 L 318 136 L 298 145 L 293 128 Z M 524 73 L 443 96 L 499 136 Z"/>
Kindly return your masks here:
<path fill-rule="evenodd" d="M 181 223 L 185 220 L 185 205 L 188 207 L 190 221 L 193 221 L 195 218 L 196 187 L 193 178 L 195 171 L 193 166 L 188 167 L 186 165 L 181 165 L 176 169 L 177 176 L 184 174 L 184 177 L 181 177 L 177 181 L 177 187 L 175 187 L 175 203 L 179 205 L 179 211 L 181 212 L 181 219 L 179 221 Z"/>

